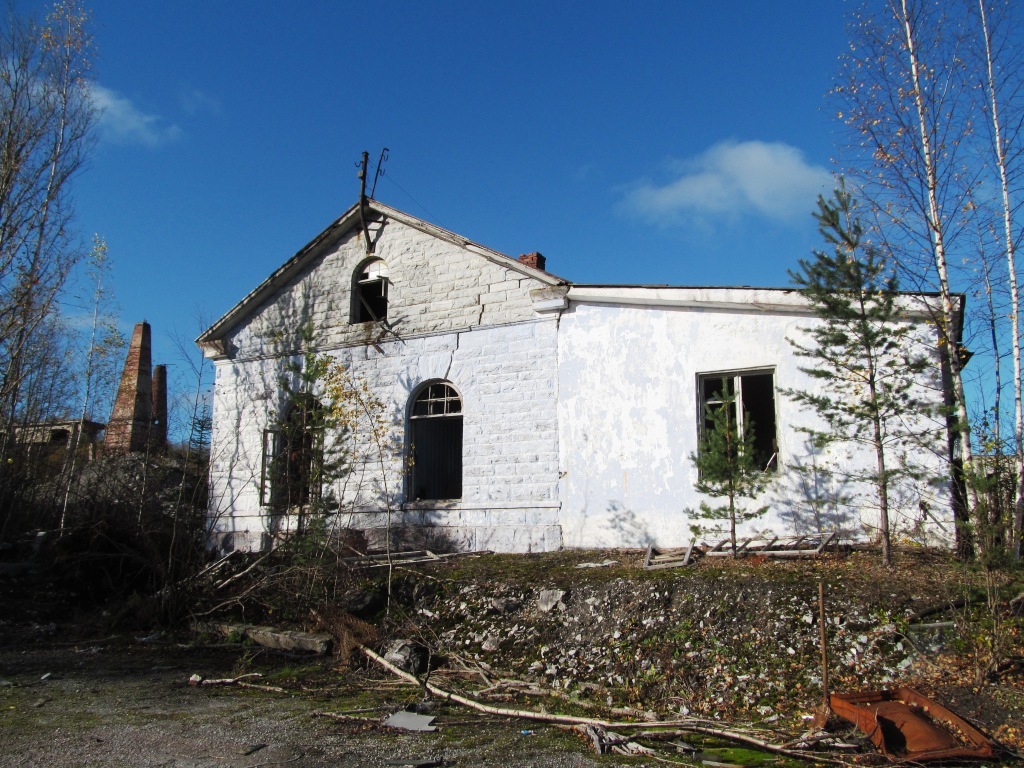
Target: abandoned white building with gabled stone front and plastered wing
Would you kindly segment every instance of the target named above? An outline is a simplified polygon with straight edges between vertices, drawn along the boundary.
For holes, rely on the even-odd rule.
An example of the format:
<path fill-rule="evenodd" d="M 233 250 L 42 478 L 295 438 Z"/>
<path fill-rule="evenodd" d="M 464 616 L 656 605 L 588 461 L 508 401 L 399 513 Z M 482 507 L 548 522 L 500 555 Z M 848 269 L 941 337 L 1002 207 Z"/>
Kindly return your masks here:
<path fill-rule="evenodd" d="M 936 357 L 919 394 L 937 400 L 919 299 L 905 297 L 906 322 Z M 801 429 L 818 417 L 784 394 L 821 386 L 787 342 L 817 322 L 793 290 L 573 284 L 539 253 L 510 258 L 356 204 L 197 340 L 216 369 L 218 545 L 269 546 L 321 500 L 378 545 L 390 530 L 462 550 L 684 546 L 693 510 L 714 501 L 694 489 L 690 457 L 717 399 L 754 424 L 773 475 L 759 500 L 769 511 L 746 532 L 870 538 L 869 488 L 824 470 L 872 455 L 814 449 Z M 323 391 L 289 397 L 308 347 L 347 367 L 387 415 L 380 454 L 356 446 L 331 483 L 311 467 L 335 436 L 301 427 Z M 912 458 L 933 476 L 946 461 L 940 432 Z M 951 538 L 947 487 L 907 480 L 890 503 L 897 535 Z"/>

